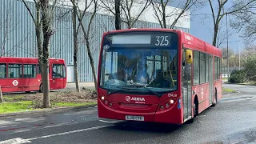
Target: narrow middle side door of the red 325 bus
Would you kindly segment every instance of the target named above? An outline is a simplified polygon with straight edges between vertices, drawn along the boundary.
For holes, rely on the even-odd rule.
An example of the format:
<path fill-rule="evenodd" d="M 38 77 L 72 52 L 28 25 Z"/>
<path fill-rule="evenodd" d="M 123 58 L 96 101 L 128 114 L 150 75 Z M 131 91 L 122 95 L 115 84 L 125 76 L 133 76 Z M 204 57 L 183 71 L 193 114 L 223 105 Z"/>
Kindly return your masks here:
<path fill-rule="evenodd" d="M 214 62 L 213 62 L 213 55 L 209 55 L 209 101 L 210 105 L 213 103 L 213 88 L 214 88 L 214 74 L 213 69 L 214 68 Z"/>

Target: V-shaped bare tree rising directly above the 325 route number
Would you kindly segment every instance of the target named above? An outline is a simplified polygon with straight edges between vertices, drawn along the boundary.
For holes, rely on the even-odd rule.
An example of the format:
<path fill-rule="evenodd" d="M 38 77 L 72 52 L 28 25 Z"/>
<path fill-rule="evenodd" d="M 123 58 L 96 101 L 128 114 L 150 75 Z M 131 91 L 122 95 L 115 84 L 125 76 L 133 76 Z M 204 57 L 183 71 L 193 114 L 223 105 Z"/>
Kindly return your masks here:
<path fill-rule="evenodd" d="M 178 20 L 184 17 L 186 11 L 190 10 L 190 8 L 197 2 L 197 0 L 180 1 L 177 6 L 180 8 L 174 8 L 174 10 L 168 11 L 166 10 L 166 6 L 171 2 L 174 1 L 160 0 L 160 2 L 156 2 L 154 0 L 150 0 L 154 10 L 154 17 L 158 20 L 162 28 L 167 28 L 167 25 L 169 25 L 170 29 L 173 29 Z M 171 23 L 168 22 L 168 19 L 170 18 L 174 18 L 174 21 Z"/>

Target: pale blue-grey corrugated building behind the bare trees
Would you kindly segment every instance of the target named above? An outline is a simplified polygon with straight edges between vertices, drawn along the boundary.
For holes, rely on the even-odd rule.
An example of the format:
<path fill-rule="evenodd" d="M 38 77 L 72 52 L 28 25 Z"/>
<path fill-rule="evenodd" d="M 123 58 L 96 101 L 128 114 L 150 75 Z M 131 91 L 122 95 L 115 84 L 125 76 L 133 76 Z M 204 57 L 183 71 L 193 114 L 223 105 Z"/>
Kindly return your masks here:
<path fill-rule="evenodd" d="M 30 0 L 28 1 L 28 5 L 35 15 L 34 2 Z M 50 41 L 50 57 L 65 59 L 68 82 L 74 82 L 72 10 L 69 2 L 65 3 L 65 5 L 66 6 L 58 6 L 55 8 L 53 24 L 55 33 Z M 139 9 L 139 6 L 135 7 L 132 11 L 136 12 L 136 9 Z M 174 8 L 170 6 L 167 6 L 166 9 L 168 11 L 174 11 Z M 175 10 L 178 9 L 175 8 Z M 0 14 L 0 56 L 37 57 L 34 22 L 22 1 L 1 0 Z M 153 15 L 154 11 L 152 7 L 149 7 L 138 19 L 138 22 L 135 23 L 134 28 L 160 28 L 158 21 Z M 84 18 L 85 23 L 89 22 L 89 18 L 90 17 Z M 172 22 L 173 20 L 168 19 L 168 21 Z M 167 25 L 169 25 L 169 23 L 167 23 Z M 122 23 L 122 28 L 126 28 L 124 23 Z M 187 33 L 190 33 L 189 13 L 186 13 L 186 16 L 177 22 L 175 29 L 184 30 Z M 98 56 L 102 34 L 109 30 L 114 30 L 114 16 L 106 10 L 98 10 L 98 13 L 94 17 L 90 35 L 91 51 L 94 56 L 94 64 L 96 68 L 98 67 Z M 79 38 L 78 77 L 80 82 L 93 82 L 90 60 L 87 56 L 85 42 L 82 40 L 82 34 Z"/>

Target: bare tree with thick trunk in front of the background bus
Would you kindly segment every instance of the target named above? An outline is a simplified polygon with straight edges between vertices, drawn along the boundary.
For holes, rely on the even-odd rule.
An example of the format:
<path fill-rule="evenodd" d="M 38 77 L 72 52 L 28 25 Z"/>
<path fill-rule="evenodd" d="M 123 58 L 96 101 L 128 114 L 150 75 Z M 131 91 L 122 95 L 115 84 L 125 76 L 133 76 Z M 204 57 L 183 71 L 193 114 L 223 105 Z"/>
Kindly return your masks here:
<path fill-rule="evenodd" d="M 22 0 L 26 9 L 29 11 L 31 18 L 34 21 L 36 30 L 37 43 L 38 43 L 38 62 L 42 67 L 42 91 L 43 91 L 43 107 L 50 107 L 50 88 L 49 88 L 49 47 L 50 37 L 54 34 L 54 30 L 51 27 L 51 22 L 54 18 L 54 6 L 56 6 L 57 0 L 52 2 L 50 6 L 49 0 L 34 0 L 36 6 L 36 18 L 30 7 L 26 4 L 25 0 Z"/>

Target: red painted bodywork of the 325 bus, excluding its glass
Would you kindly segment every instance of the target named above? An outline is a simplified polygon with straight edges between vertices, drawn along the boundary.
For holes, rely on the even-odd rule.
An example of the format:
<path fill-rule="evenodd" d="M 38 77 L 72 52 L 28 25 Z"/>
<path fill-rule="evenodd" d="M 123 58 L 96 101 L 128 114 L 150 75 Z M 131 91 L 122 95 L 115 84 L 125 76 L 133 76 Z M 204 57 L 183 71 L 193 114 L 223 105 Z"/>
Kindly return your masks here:
<path fill-rule="evenodd" d="M 140 94 L 107 94 L 107 91 L 100 87 L 100 78 L 101 78 L 101 68 L 102 68 L 102 50 L 103 50 L 103 40 L 107 34 L 115 33 L 126 33 L 131 31 L 157 31 L 157 32 L 173 32 L 178 34 L 178 90 L 163 94 L 162 97 L 158 98 L 154 94 L 140 95 Z M 214 73 L 212 78 L 213 82 L 213 91 L 210 96 L 209 92 L 209 82 L 204 84 L 199 84 L 197 86 L 191 85 L 191 94 L 190 107 L 192 114 L 188 118 L 184 118 L 183 109 L 184 102 L 182 99 L 182 49 L 186 47 L 190 50 L 198 50 L 206 54 L 212 54 L 222 58 L 222 52 L 215 46 L 203 42 L 202 40 L 195 38 L 194 36 L 183 32 L 182 30 L 166 30 L 166 29 L 129 29 L 129 30 L 114 30 L 106 32 L 102 36 L 102 46 L 101 53 L 98 64 L 98 117 L 99 118 L 110 118 L 118 120 L 127 120 L 126 115 L 131 116 L 143 116 L 144 122 L 163 122 L 163 123 L 173 123 L 173 124 L 182 124 L 190 119 L 194 118 L 194 100 L 198 100 L 198 114 L 203 110 L 206 110 L 211 105 L 216 103 L 214 99 L 214 94 L 217 92 L 217 101 L 222 97 L 222 79 L 219 75 L 218 80 L 214 80 Z M 214 62 L 214 61 L 213 61 Z M 214 65 L 213 65 L 214 66 Z M 212 67 L 214 72 L 214 67 Z M 192 64 L 192 83 L 193 83 L 193 64 Z M 210 102 L 210 97 L 212 97 L 212 102 Z M 134 101 L 127 101 L 126 99 L 135 98 L 135 99 L 144 99 L 144 103 L 136 103 Z M 107 100 L 107 101 L 106 101 Z M 170 104 L 168 108 L 164 107 L 161 109 L 161 106 L 165 106 L 166 103 Z M 111 104 L 110 104 L 111 103 Z"/>

